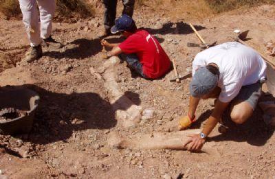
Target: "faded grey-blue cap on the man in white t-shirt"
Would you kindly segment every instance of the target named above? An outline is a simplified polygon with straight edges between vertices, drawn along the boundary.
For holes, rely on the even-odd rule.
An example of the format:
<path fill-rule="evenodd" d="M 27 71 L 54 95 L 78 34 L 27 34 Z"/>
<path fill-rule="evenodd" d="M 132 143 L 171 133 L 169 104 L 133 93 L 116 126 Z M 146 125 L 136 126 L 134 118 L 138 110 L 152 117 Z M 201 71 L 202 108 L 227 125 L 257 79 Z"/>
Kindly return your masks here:
<path fill-rule="evenodd" d="M 219 80 L 218 74 L 211 73 L 207 67 L 198 69 L 190 82 L 190 94 L 193 97 L 202 97 L 210 93 L 217 86 Z"/>

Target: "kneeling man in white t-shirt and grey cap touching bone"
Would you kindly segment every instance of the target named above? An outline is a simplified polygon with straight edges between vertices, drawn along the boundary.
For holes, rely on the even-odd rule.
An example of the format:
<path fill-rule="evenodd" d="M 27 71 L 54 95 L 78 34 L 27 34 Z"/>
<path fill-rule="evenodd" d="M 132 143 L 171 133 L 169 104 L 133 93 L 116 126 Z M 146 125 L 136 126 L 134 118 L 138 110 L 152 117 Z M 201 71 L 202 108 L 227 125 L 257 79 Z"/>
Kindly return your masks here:
<path fill-rule="evenodd" d="M 188 150 L 200 150 L 225 108 L 230 106 L 234 123 L 244 123 L 252 116 L 265 80 L 266 64 L 254 49 L 230 42 L 201 51 L 192 62 L 188 114 L 179 120 L 181 128 L 195 121 L 200 99 L 217 98 L 214 110 L 200 134 L 190 136 Z"/>

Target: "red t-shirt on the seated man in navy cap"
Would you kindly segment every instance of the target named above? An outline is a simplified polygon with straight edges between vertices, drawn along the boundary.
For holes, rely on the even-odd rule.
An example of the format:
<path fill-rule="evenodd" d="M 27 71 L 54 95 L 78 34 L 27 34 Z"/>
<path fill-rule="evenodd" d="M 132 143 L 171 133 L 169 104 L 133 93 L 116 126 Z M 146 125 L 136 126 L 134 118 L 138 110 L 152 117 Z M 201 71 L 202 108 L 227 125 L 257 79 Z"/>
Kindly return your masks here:
<path fill-rule="evenodd" d="M 135 53 L 142 64 L 143 73 L 151 78 L 164 75 L 170 69 L 170 60 L 155 37 L 142 29 L 137 29 L 118 47 L 123 53 Z"/>

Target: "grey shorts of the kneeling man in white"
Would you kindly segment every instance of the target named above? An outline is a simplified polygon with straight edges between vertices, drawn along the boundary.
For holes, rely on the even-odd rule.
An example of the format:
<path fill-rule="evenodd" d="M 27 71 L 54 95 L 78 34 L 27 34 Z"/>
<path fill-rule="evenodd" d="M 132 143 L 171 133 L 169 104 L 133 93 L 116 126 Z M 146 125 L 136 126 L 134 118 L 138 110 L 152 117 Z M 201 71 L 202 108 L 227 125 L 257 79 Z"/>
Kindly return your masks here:
<path fill-rule="evenodd" d="M 253 110 L 255 110 L 262 93 L 263 91 L 261 82 L 249 84 L 247 86 L 241 87 L 239 94 L 236 95 L 236 97 L 232 100 L 232 103 L 236 101 L 248 102 Z"/>

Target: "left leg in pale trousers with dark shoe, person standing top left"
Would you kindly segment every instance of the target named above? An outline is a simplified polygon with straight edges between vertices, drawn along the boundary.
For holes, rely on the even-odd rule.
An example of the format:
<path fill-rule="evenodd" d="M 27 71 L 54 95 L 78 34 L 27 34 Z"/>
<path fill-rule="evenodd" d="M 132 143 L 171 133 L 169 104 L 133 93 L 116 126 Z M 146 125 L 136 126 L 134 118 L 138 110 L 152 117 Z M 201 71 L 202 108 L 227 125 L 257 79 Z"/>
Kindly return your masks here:
<path fill-rule="evenodd" d="M 25 60 L 32 62 L 42 56 L 42 39 L 40 37 L 37 3 L 35 0 L 19 0 L 19 4 L 23 14 L 23 23 L 31 46 L 30 50 L 27 51 L 25 55 Z"/>

